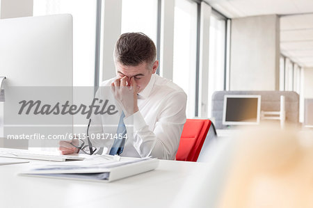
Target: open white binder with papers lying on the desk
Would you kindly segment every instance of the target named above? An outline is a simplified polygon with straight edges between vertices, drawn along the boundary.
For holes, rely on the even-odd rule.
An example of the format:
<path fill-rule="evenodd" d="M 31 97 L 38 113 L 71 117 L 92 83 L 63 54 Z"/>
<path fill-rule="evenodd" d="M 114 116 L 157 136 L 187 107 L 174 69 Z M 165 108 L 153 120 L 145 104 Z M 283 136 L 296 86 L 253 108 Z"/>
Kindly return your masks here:
<path fill-rule="evenodd" d="M 112 182 L 132 175 L 154 170 L 159 165 L 157 159 L 97 156 L 85 161 L 69 161 L 34 166 L 19 175 L 38 177 L 58 177 L 63 179 L 83 179 L 89 181 Z"/>

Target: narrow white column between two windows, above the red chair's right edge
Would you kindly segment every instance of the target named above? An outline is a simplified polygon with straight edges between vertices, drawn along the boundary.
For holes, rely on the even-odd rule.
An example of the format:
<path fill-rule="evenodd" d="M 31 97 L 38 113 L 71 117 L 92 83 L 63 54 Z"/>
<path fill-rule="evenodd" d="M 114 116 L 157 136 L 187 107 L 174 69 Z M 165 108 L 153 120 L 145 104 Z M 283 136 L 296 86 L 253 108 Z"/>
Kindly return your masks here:
<path fill-rule="evenodd" d="M 200 11 L 200 68 L 199 68 L 199 117 L 208 115 L 208 79 L 209 79 L 209 33 L 211 6 L 201 2 Z"/>

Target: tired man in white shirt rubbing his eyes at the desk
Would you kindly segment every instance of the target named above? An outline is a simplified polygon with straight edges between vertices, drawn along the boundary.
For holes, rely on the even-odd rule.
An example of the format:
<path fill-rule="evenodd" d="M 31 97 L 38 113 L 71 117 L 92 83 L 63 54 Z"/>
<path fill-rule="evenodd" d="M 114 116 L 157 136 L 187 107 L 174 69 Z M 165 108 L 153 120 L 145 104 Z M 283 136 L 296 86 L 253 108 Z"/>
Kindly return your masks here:
<path fill-rule="evenodd" d="M 118 129 L 126 129 L 127 139 L 118 145 L 112 140 L 92 141 L 96 147 L 104 147 L 104 154 L 175 159 L 186 122 L 186 93 L 172 81 L 155 74 L 159 67 L 156 58 L 154 42 L 143 33 L 125 33 L 116 42 L 117 76 L 101 86 L 111 86 L 122 106 L 125 118 L 121 117 Z M 134 90 L 131 95 L 134 100 L 123 99 L 122 90 L 127 86 Z M 101 120 L 98 118 L 98 122 Z M 79 151 L 70 142 L 61 141 L 60 145 L 63 154 Z"/>

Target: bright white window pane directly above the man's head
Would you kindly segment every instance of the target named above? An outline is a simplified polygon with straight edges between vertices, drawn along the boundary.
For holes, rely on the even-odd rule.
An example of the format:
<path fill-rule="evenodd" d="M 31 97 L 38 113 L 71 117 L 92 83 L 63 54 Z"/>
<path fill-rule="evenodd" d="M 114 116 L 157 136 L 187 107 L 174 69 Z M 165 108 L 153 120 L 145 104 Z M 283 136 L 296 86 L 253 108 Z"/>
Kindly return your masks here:
<path fill-rule="evenodd" d="M 122 33 L 145 33 L 157 46 L 157 8 L 157 0 L 122 0 Z"/>

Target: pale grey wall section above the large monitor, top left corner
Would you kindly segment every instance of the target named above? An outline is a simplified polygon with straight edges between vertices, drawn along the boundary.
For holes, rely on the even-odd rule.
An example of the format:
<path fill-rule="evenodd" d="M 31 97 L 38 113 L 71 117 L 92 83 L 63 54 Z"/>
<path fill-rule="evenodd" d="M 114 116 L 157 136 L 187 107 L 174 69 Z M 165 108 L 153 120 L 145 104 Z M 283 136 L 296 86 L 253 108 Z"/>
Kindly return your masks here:
<path fill-rule="evenodd" d="M 0 19 L 33 16 L 33 0 L 0 0 Z"/>

